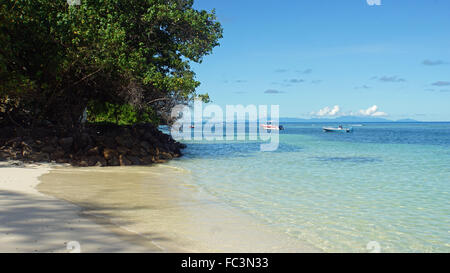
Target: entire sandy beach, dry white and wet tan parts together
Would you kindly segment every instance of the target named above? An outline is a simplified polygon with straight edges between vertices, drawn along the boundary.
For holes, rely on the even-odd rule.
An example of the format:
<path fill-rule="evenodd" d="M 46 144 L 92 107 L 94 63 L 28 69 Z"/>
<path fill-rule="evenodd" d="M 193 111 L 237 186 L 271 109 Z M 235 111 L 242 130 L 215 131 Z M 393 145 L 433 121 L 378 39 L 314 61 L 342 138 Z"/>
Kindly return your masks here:
<path fill-rule="evenodd" d="M 317 251 L 223 206 L 180 172 L 3 164 L 0 252 L 71 252 L 78 243 L 81 252 Z"/>

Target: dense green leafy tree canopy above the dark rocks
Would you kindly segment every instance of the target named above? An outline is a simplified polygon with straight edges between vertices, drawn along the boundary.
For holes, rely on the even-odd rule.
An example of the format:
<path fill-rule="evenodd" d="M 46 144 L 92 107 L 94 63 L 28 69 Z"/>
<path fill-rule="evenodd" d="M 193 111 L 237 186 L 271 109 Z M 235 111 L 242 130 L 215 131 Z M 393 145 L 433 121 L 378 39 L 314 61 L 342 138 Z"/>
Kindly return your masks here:
<path fill-rule="evenodd" d="M 1 0 L 0 122 L 74 127 L 86 108 L 92 120 L 164 117 L 209 99 L 190 63 L 221 37 L 193 0 Z"/>

